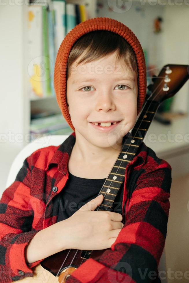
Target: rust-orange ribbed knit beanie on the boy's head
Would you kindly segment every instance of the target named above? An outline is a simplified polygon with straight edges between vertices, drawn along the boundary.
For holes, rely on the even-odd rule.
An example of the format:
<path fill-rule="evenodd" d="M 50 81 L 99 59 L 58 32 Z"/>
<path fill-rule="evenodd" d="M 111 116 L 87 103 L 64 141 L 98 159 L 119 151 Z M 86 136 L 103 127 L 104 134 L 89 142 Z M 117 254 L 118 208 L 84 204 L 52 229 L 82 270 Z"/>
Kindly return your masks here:
<path fill-rule="evenodd" d="M 132 47 L 138 68 L 138 98 L 137 98 L 137 115 L 140 112 L 147 90 L 146 66 L 142 47 L 135 34 L 123 23 L 111 18 L 92 18 L 76 25 L 69 33 L 66 34 L 62 41 L 55 61 L 54 68 L 54 88 L 58 106 L 62 111 L 67 123 L 71 129 L 75 128 L 71 122 L 70 114 L 66 104 L 66 67 L 68 57 L 74 43 L 84 34 L 90 31 L 107 30 L 122 36 Z"/>

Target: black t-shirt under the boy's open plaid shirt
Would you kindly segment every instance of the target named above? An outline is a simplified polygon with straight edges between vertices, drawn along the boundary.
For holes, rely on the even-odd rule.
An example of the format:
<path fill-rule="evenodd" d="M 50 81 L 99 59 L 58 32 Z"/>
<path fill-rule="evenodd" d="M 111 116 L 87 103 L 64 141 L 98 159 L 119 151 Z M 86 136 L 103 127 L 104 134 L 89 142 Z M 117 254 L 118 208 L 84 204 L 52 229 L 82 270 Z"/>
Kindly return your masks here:
<path fill-rule="evenodd" d="M 57 195 L 59 203 L 57 222 L 70 217 L 81 206 L 96 198 L 106 178 L 86 179 L 72 175 L 69 171 L 69 178 L 62 192 Z M 115 198 L 112 211 L 122 213 L 123 184 Z"/>

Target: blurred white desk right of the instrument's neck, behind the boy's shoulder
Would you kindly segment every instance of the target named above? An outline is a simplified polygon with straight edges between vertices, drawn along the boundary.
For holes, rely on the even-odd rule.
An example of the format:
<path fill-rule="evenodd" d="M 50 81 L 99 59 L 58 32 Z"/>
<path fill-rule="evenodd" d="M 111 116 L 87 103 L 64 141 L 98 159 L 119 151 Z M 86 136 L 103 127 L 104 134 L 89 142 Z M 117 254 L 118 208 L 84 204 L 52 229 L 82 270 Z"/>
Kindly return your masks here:
<path fill-rule="evenodd" d="M 173 178 L 189 174 L 188 125 L 189 115 L 175 118 L 171 125 L 153 120 L 144 138 L 144 143 L 155 151 L 157 157 L 171 165 Z"/>

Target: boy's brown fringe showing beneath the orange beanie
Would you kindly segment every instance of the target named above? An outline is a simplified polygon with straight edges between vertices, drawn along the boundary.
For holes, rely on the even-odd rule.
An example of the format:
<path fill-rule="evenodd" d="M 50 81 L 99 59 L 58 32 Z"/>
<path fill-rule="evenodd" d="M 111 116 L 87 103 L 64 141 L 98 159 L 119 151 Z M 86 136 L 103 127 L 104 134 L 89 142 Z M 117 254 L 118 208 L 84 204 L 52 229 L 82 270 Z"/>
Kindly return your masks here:
<path fill-rule="evenodd" d="M 122 36 L 112 31 L 97 30 L 84 34 L 73 45 L 68 57 L 67 79 L 70 77 L 71 65 L 84 51 L 86 51 L 86 54 L 79 60 L 77 66 L 83 62 L 89 63 L 118 51 L 116 59 L 123 59 L 125 64 L 138 77 L 136 57 L 130 44 Z"/>

